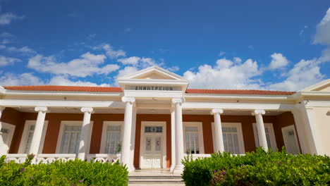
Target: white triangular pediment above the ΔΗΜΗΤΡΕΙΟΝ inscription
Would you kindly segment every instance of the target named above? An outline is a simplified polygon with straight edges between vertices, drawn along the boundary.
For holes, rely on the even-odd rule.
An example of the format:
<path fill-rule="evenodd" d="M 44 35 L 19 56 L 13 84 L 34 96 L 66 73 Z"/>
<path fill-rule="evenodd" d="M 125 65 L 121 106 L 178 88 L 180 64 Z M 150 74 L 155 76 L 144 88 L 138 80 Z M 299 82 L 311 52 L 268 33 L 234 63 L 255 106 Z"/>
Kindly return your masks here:
<path fill-rule="evenodd" d="M 119 77 L 118 80 L 149 79 L 149 80 L 187 80 L 184 77 L 171 73 L 169 70 L 152 66 L 136 73 Z"/>

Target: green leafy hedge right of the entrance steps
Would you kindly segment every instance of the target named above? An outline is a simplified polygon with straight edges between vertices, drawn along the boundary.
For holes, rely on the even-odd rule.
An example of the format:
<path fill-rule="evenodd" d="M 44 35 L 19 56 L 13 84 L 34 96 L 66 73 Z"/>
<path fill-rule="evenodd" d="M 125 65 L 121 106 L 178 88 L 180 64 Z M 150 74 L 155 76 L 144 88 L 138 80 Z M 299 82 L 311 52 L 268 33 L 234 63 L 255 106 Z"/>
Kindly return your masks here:
<path fill-rule="evenodd" d="M 244 156 L 212 154 L 183 160 L 185 185 L 330 185 L 329 156 L 257 149 Z"/>

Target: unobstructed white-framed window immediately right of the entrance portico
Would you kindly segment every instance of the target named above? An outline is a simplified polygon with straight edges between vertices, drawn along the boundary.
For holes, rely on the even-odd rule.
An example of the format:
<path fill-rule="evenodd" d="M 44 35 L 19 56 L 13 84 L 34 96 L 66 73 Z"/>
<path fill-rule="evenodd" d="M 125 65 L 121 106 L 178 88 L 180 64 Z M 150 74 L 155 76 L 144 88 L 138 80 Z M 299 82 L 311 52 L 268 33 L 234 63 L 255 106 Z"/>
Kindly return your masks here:
<path fill-rule="evenodd" d="M 185 153 L 204 154 L 202 123 L 184 122 L 183 130 Z"/>

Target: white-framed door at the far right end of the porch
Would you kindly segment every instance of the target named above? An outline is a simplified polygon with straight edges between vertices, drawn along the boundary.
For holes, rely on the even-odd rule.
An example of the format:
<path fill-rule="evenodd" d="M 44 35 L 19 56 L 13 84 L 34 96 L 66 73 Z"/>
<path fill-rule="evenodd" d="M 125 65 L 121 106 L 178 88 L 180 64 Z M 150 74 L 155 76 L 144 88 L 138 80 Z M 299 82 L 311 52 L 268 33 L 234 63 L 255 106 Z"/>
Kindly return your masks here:
<path fill-rule="evenodd" d="M 282 128 L 282 134 L 286 151 L 290 154 L 299 154 L 300 150 L 294 125 Z"/>

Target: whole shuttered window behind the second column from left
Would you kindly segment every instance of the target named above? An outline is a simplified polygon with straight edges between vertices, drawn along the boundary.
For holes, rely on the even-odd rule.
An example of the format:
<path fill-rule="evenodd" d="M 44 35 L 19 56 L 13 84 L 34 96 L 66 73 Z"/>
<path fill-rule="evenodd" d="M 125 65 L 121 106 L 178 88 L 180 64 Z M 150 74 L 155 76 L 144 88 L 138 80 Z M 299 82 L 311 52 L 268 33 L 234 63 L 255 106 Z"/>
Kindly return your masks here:
<path fill-rule="evenodd" d="M 90 134 L 92 135 L 92 121 L 90 123 Z M 80 132 L 82 121 L 80 120 L 62 120 L 57 141 L 56 153 L 58 154 L 77 154 L 79 151 Z M 90 142 L 87 142 L 87 151 L 90 151 Z"/>

